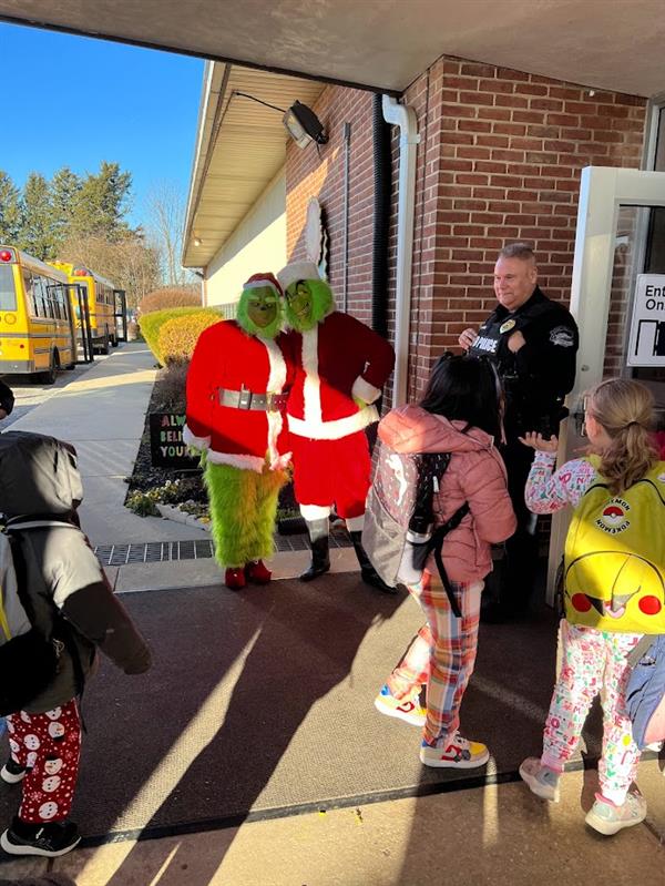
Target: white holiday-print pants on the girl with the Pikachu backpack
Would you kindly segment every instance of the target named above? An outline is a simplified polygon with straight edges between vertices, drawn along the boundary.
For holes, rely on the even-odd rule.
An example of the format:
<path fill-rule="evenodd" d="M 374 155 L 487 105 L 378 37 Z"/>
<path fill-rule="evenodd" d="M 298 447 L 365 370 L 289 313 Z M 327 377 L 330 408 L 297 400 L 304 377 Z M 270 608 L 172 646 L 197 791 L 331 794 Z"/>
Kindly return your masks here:
<path fill-rule="evenodd" d="M 640 751 L 625 712 L 630 676 L 626 655 L 642 634 L 610 633 L 561 622 L 563 663 L 554 686 L 543 736 L 541 762 L 559 772 L 571 758 L 591 704 L 600 693 L 603 704 L 603 754 L 598 763 L 601 794 L 621 805 L 626 798 Z"/>

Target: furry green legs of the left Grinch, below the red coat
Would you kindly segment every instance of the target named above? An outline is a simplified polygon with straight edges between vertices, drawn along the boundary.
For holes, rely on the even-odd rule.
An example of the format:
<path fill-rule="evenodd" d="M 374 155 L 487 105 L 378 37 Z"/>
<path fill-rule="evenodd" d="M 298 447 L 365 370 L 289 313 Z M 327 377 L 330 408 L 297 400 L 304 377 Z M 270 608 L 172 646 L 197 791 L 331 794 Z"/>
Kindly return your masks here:
<path fill-rule="evenodd" d="M 214 465 L 207 461 L 205 486 L 211 505 L 215 559 L 223 567 L 237 569 L 273 553 L 273 532 L 277 493 L 283 480 L 274 476 Z M 274 507 L 266 499 L 274 498 Z"/>

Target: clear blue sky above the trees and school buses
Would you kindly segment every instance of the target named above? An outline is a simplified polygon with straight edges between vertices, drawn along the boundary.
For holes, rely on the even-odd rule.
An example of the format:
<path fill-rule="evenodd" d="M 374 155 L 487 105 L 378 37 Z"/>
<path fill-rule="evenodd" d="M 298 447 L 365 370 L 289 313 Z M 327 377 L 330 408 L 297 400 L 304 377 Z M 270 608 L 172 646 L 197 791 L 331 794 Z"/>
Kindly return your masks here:
<path fill-rule="evenodd" d="M 161 181 L 186 197 L 201 59 L 0 22 L 0 170 L 22 186 L 28 173 L 61 166 L 85 174 L 102 160 L 133 176 L 131 224 Z M 17 121 L 9 125 L 9 121 Z"/>

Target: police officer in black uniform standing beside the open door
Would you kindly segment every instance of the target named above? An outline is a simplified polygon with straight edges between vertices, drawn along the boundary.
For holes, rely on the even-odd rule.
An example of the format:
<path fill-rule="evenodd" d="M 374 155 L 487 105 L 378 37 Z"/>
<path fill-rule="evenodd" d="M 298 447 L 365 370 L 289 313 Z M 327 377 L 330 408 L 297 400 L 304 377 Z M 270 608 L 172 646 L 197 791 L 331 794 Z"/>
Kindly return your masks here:
<path fill-rule="evenodd" d="M 533 452 L 519 441 L 528 430 L 559 434 L 565 395 L 575 380 L 577 326 L 571 313 L 538 285 L 533 251 L 512 243 L 494 266 L 499 304 L 480 329 L 464 329 L 460 345 L 494 361 L 505 390 L 505 442 L 501 448 L 518 529 L 505 542 L 504 562 L 489 577 L 483 620 L 500 621 L 526 609 L 538 563 L 536 518 L 524 503 Z"/>

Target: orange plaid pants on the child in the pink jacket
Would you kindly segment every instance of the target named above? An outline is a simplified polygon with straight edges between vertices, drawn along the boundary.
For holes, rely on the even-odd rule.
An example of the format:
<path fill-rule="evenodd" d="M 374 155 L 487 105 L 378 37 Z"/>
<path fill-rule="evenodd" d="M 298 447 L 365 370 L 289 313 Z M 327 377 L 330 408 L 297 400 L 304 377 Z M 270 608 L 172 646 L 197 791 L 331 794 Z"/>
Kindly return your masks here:
<path fill-rule="evenodd" d="M 413 638 L 402 660 L 388 678 L 396 699 L 413 700 L 427 685 L 427 722 L 423 737 L 434 742 L 452 737 L 460 723 L 462 695 L 473 673 L 478 649 L 478 623 L 482 581 L 451 582 L 462 617 L 453 614 L 438 576 L 423 573 L 420 584 L 409 588 L 427 624 Z"/>

